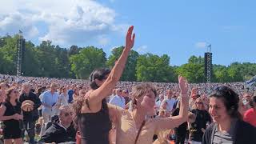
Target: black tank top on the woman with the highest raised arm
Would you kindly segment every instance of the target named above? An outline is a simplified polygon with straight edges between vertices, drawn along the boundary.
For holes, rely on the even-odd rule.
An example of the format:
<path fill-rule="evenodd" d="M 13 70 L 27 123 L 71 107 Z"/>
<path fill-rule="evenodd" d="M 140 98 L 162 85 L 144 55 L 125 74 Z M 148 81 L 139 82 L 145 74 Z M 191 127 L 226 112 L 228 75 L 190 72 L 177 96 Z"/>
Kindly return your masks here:
<path fill-rule="evenodd" d="M 86 113 L 78 116 L 78 128 L 82 144 L 109 144 L 111 127 L 106 99 L 102 100 L 102 109 L 97 113 Z"/>

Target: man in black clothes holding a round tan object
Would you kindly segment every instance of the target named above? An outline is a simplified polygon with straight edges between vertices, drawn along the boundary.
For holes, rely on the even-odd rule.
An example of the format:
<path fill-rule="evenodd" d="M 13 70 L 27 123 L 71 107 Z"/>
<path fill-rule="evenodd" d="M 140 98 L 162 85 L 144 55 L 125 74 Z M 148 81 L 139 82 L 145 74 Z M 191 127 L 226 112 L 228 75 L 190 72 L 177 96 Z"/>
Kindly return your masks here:
<path fill-rule="evenodd" d="M 31 86 L 29 83 L 24 83 L 22 85 L 22 94 L 19 98 L 19 102 L 24 102 L 26 100 L 30 100 L 34 102 L 34 105 L 32 106 L 32 109 L 30 110 L 22 110 L 23 112 L 23 125 L 25 130 L 27 131 L 27 134 L 29 135 L 30 138 L 30 143 L 34 144 L 34 127 L 35 127 L 35 122 L 38 120 L 38 107 L 41 106 L 41 101 L 38 98 L 36 94 L 34 94 L 31 90 Z M 24 102 L 26 103 L 26 102 Z M 23 130 L 23 135 L 25 130 Z"/>

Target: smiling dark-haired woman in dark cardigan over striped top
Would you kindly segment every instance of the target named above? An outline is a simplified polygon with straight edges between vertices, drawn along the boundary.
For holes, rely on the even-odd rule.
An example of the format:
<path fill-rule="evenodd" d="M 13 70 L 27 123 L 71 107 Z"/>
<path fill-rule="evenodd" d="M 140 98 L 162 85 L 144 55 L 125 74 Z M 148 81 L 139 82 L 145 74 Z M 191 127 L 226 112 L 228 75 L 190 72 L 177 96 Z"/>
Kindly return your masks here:
<path fill-rule="evenodd" d="M 214 120 L 203 135 L 202 144 L 255 144 L 256 128 L 242 121 L 239 97 L 227 86 L 215 87 L 210 94 L 209 113 Z"/>

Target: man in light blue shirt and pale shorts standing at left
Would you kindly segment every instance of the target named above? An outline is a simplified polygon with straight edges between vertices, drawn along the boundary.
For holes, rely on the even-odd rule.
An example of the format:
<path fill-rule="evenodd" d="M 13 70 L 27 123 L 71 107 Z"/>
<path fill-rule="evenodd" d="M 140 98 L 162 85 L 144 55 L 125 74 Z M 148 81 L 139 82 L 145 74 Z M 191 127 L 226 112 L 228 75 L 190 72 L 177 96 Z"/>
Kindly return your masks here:
<path fill-rule="evenodd" d="M 52 83 L 50 90 L 42 94 L 42 118 L 44 123 L 49 122 L 51 117 L 56 113 L 56 103 L 58 102 L 59 94 L 57 93 L 57 84 Z"/>

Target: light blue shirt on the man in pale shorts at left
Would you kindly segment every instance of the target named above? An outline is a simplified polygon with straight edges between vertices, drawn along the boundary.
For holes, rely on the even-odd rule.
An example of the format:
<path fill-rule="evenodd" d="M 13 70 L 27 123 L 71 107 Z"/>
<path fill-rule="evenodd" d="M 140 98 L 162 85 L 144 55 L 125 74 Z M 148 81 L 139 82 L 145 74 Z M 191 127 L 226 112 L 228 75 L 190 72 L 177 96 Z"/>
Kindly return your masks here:
<path fill-rule="evenodd" d="M 56 102 L 58 102 L 59 94 L 55 92 L 54 94 L 51 94 L 50 90 L 46 91 L 42 94 L 42 103 L 46 103 L 47 105 L 54 106 Z M 46 106 L 42 106 L 42 113 L 51 114 L 52 109 Z"/>

